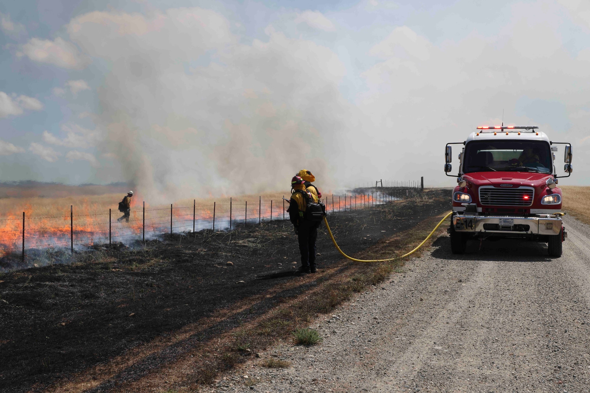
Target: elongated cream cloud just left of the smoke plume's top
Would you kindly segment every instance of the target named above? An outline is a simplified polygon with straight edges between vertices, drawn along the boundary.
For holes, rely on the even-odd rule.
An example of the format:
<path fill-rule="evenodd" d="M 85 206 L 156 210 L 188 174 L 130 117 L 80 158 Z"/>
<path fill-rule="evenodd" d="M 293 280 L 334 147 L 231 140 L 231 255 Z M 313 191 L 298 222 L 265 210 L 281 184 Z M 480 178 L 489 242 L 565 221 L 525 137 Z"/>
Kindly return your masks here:
<path fill-rule="evenodd" d="M 81 70 L 88 64 L 87 58 L 80 54 L 76 46 L 60 37 L 55 38 L 54 41 L 31 38 L 22 46 L 20 55 L 22 54 L 33 61 L 53 64 L 69 70 Z"/>

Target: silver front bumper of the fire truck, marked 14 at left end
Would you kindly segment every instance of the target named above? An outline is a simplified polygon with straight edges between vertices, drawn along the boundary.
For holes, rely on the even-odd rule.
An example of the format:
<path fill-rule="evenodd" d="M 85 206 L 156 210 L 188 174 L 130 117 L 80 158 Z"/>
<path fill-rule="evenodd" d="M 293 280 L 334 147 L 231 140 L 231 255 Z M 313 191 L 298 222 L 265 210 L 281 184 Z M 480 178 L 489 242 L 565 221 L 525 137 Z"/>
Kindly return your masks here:
<path fill-rule="evenodd" d="M 562 219 L 557 214 L 537 214 L 531 217 L 454 214 L 451 224 L 456 232 L 559 235 Z"/>

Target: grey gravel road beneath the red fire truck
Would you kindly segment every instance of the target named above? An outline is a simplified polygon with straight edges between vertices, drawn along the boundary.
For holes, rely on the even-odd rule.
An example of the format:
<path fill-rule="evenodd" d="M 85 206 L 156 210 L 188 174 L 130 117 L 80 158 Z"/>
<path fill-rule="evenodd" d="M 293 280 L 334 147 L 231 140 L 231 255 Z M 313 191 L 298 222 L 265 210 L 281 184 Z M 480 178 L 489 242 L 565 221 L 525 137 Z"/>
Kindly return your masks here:
<path fill-rule="evenodd" d="M 457 257 L 440 237 L 315 321 L 322 344 L 278 345 L 207 391 L 590 392 L 590 227 L 565 227 L 559 259 L 510 240 Z M 268 356 L 291 366 L 263 368 Z"/>

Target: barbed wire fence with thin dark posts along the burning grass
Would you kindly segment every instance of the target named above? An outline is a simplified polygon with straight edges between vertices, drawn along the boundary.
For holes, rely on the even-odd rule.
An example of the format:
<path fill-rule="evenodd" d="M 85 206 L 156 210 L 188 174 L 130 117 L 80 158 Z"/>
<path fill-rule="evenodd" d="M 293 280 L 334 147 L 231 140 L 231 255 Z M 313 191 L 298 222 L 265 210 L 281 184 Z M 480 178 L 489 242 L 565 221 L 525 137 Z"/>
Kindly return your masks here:
<path fill-rule="evenodd" d="M 381 186 L 377 186 L 380 183 Z M 326 205 L 327 213 L 338 213 L 360 209 L 368 209 L 380 204 L 404 200 L 417 196 L 424 190 L 423 181 L 388 181 L 378 180 L 373 187 L 356 189 L 355 193 L 323 196 L 320 201 Z M 363 193 L 360 193 L 363 191 Z M 25 249 L 42 249 L 47 247 L 68 247 L 74 251 L 74 245 L 91 246 L 95 244 L 112 245 L 122 237 L 133 237 L 133 240 L 157 239 L 166 233 L 198 232 L 211 229 L 237 229 L 238 226 L 248 227 L 270 220 L 289 219 L 286 212 L 289 203 L 286 199 L 244 203 L 217 203 L 193 206 L 160 207 L 146 209 L 145 202 L 141 209 L 131 210 L 129 221 L 123 217 L 113 222 L 113 214 L 120 214 L 109 209 L 108 213 L 74 214 L 74 206 L 70 206 L 70 214 L 55 216 L 21 217 L 0 219 L 8 222 L 14 229 L 0 230 L 0 252 L 8 255 L 18 255 L 21 252 L 22 261 L 25 260 Z M 57 226 L 51 226 L 47 220 L 58 221 Z M 97 222 L 89 222 L 89 221 Z M 124 224 L 121 224 L 124 221 Z M 129 223 L 129 225 L 127 225 Z M 22 226 L 21 226 L 22 224 Z M 6 227 L 6 225 L 5 225 Z M 6 235 L 8 237 L 6 238 Z M 10 235 L 16 237 L 10 237 Z"/>

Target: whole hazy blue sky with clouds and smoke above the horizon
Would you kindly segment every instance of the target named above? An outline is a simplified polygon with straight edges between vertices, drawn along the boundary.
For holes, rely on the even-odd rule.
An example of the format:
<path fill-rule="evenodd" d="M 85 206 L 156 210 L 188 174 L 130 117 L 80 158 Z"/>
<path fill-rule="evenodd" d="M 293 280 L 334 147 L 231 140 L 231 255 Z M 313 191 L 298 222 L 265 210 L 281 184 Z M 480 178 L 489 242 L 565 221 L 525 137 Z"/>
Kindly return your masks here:
<path fill-rule="evenodd" d="M 2 2 L 0 45 L 1 181 L 448 187 L 445 143 L 504 121 L 590 183 L 584 1 Z"/>

